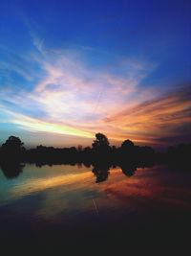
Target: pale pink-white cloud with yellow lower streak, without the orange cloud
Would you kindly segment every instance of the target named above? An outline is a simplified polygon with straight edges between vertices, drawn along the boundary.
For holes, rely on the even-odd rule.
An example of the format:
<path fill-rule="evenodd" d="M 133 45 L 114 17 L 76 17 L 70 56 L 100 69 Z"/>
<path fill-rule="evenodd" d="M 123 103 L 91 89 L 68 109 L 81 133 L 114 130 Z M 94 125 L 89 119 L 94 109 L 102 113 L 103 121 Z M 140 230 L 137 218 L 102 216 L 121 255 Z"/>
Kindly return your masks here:
<path fill-rule="evenodd" d="M 123 59 L 120 69 L 125 66 L 131 74 L 115 75 L 111 71 L 89 68 L 80 52 L 47 50 L 37 37 L 32 35 L 32 39 L 38 50 L 32 58 L 38 74 L 32 75 L 40 79 L 34 79 L 30 90 L 23 84 L 19 90 L 13 85 L 0 89 L 7 120 L 19 128 L 94 136 L 102 128 L 108 112 L 125 105 L 128 98 L 130 102 L 138 82 L 145 76 L 145 67 L 138 65 L 138 61 L 125 63 Z"/>

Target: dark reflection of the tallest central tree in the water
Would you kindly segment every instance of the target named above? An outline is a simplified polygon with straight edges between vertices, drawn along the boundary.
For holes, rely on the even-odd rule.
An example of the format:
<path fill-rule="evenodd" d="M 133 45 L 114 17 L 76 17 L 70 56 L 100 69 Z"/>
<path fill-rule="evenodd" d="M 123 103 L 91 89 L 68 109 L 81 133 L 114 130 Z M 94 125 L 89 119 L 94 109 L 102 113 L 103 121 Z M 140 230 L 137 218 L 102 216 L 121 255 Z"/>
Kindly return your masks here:
<path fill-rule="evenodd" d="M 93 173 L 96 175 L 96 183 L 102 182 L 108 178 L 110 167 L 108 164 L 94 164 Z"/>

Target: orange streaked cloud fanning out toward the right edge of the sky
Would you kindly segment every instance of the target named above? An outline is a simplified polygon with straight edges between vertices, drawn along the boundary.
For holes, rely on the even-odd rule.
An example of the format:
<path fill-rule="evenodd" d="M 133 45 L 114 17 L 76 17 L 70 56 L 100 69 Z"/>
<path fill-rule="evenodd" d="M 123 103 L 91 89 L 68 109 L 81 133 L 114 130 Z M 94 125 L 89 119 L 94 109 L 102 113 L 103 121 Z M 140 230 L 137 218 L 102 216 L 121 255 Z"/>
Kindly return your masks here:
<path fill-rule="evenodd" d="M 120 136 L 139 137 L 139 140 L 142 138 L 151 144 L 167 145 L 170 140 L 173 143 L 175 137 L 176 141 L 186 141 L 191 134 L 188 131 L 191 124 L 191 87 L 182 86 L 157 99 L 133 107 L 126 106 L 108 115 L 104 122 L 120 128 Z"/>

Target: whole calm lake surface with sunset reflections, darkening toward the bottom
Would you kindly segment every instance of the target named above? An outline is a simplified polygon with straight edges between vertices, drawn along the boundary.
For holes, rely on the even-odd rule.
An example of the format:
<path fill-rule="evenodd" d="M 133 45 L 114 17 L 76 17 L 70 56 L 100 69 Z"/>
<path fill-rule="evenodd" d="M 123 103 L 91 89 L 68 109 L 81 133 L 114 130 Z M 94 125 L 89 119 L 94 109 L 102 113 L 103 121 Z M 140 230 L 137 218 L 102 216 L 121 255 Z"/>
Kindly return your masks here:
<path fill-rule="evenodd" d="M 0 238 L 2 244 L 52 249 L 63 243 L 129 244 L 130 234 L 132 241 L 157 235 L 158 243 L 161 233 L 167 244 L 172 236 L 173 243 L 185 241 L 190 202 L 191 172 L 165 166 L 137 169 L 131 177 L 111 169 L 107 180 L 96 183 L 84 166 L 26 165 L 15 178 L 0 172 Z"/>

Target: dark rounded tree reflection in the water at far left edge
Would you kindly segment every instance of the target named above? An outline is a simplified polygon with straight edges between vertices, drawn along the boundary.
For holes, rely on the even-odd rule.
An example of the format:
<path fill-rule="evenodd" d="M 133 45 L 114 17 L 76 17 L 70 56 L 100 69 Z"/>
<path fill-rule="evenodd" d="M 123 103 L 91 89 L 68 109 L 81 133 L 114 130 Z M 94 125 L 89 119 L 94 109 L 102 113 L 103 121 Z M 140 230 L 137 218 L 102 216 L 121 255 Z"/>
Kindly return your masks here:
<path fill-rule="evenodd" d="M 1 170 L 7 178 L 14 178 L 23 172 L 24 164 L 19 162 L 4 162 L 1 164 Z"/>

